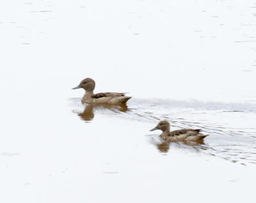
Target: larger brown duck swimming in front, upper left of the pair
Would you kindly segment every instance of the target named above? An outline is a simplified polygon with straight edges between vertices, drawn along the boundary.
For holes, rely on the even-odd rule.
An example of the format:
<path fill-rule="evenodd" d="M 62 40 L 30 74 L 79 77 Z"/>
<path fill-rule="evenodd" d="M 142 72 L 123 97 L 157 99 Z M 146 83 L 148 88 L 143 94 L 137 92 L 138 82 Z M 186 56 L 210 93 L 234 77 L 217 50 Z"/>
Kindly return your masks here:
<path fill-rule="evenodd" d="M 124 104 L 131 96 L 125 96 L 126 93 L 97 93 L 94 94 L 93 90 L 95 89 L 95 81 L 90 78 L 82 80 L 79 86 L 72 89 L 83 88 L 85 94 L 82 98 L 82 103 L 91 103 L 91 104 Z"/>

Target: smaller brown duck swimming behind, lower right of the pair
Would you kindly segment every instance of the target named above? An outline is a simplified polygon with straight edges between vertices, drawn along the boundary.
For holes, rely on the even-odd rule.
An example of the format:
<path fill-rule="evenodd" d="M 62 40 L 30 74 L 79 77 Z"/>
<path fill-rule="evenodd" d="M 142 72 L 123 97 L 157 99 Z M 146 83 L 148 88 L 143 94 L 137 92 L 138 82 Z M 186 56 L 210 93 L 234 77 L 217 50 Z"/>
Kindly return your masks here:
<path fill-rule="evenodd" d="M 201 129 L 180 129 L 170 132 L 170 123 L 168 121 L 160 121 L 156 128 L 150 131 L 161 130 L 162 133 L 159 135 L 161 139 L 165 141 L 193 141 L 198 142 L 204 140 L 208 135 L 200 133 Z"/>

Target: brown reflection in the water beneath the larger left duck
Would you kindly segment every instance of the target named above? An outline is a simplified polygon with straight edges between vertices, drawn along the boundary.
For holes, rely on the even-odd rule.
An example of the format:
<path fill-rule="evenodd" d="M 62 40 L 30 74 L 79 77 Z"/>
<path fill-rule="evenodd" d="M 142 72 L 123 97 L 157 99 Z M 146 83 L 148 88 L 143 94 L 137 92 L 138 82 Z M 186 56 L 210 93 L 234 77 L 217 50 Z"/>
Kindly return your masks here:
<path fill-rule="evenodd" d="M 111 110 L 112 112 L 127 112 L 129 108 L 126 104 L 88 104 L 84 107 L 83 112 L 77 112 L 77 115 L 84 121 L 92 121 L 96 110 Z"/>

